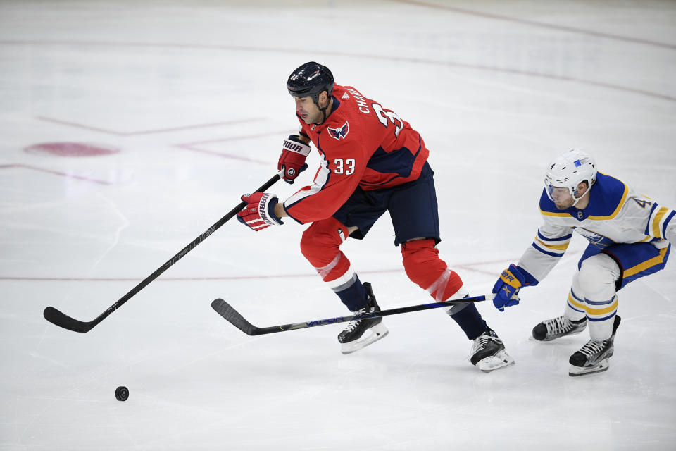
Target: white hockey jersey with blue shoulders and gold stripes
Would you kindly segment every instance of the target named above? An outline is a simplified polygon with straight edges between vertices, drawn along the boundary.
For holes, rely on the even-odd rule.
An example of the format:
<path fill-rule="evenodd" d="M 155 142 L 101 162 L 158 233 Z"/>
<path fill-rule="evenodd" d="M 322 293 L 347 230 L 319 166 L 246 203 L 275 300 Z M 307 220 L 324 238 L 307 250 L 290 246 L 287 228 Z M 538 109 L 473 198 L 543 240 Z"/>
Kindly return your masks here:
<path fill-rule="evenodd" d="M 568 248 L 572 233 L 601 249 L 619 243 L 651 242 L 658 248 L 676 242 L 676 211 L 637 194 L 622 181 L 598 173 L 583 210 L 559 210 L 546 192 L 540 197 L 544 223 L 519 260 L 536 280 L 542 280 Z"/>

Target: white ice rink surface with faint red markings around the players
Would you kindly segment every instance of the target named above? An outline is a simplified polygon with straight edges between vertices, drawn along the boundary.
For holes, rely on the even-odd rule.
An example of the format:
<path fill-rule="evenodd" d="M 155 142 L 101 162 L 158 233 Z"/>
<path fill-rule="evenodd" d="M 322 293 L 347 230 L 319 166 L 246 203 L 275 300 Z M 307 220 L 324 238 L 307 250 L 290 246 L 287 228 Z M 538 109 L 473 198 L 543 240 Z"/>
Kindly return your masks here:
<path fill-rule="evenodd" d="M 0 449 L 673 450 L 673 261 L 620 291 L 609 371 L 568 376 L 586 331 L 529 340 L 579 236 L 518 307 L 478 304 L 516 360 L 494 373 L 439 310 L 351 355 L 340 326 L 221 319 L 217 297 L 257 326 L 346 313 L 292 221 L 226 223 L 89 333 L 43 319 L 94 319 L 272 177 L 312 60 L 421 132 L 472 294 L 530 245 L 569 148 L 676 206 L 673 1 L 1 1 Z M 393 235 L 386 215 L 343 250 L 382 308 L 427 302 Z"/>

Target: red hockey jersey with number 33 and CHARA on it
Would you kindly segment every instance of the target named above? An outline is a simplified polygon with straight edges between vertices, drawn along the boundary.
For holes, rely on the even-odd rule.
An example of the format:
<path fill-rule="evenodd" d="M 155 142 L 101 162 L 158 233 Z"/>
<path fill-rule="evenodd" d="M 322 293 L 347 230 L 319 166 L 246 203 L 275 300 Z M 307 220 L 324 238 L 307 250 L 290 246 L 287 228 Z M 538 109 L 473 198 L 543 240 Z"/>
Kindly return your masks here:
<path fill-rule="evenodd" d="M 418 179 L 430 154 L 408 122 L 353 87 L 334 86 L 332 110 L 322 125 L 296 116 L 301 134 L 320 155 L 313 185 L 284 201 L 299 223 L 329 218 L 358 186 L 380 190 Z"/>

